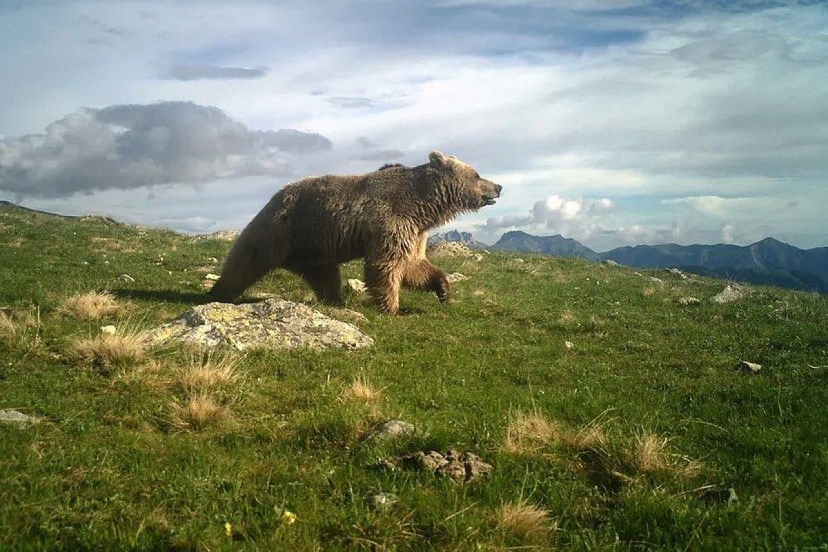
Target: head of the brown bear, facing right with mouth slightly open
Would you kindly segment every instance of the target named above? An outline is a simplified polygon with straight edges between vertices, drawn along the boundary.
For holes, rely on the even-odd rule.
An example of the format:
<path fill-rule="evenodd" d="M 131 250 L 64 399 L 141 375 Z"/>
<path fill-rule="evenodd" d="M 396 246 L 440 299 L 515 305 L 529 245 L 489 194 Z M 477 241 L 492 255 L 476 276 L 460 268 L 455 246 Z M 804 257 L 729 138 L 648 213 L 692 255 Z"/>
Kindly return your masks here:
<path fill-rule="evenodd" d="M 447 156 L 441 151 L 431 151 L 429 165 L 440 174 L 436 192 L 460 201 L 460 209 L 476 211 L 486 205 L 493 205 L 500 197 L 503 186 L 491 180 L 480 178 L 477 170 L 460 161 L 455 156 Z M 441 187 L 450 190 L 440 190 Z"/>

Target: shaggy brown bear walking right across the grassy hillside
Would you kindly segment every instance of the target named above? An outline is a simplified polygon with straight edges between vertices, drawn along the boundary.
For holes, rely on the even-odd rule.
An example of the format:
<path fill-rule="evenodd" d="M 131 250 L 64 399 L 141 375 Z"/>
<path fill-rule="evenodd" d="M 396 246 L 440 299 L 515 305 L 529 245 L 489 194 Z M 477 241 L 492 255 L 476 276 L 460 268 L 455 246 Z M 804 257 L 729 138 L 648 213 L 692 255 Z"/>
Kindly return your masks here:
<path fill-rule="evenodd" d="M 440 151 L 432 151 L 425 165 L 299 180 L 244 228 L 209 298 L 233 300 L 282 267 L 302 276 L 320 300 L 337 303 L 339 264 L 364 257 L 368 291 L 384 311 L 399 310 L 400 286 L 445 300 L 449 281 L 426 259 L 428 230 L 494 204 L 501 190 Z"/>

